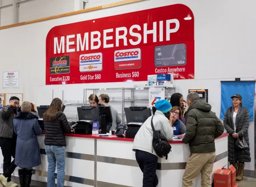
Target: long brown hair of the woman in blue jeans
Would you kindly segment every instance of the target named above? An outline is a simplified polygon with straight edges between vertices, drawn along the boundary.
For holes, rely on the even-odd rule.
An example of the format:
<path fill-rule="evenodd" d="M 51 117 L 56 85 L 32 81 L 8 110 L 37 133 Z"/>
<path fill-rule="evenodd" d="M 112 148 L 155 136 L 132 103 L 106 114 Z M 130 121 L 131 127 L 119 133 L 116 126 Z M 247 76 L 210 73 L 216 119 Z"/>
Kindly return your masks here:
<path fill-rule="evenodd" d="M 62 101 L 59 98 L 54 98 L 51 105 L 43 115 L 44 121 L 53 121 L 56 119 L 56 113 L 61 112 Z"/>

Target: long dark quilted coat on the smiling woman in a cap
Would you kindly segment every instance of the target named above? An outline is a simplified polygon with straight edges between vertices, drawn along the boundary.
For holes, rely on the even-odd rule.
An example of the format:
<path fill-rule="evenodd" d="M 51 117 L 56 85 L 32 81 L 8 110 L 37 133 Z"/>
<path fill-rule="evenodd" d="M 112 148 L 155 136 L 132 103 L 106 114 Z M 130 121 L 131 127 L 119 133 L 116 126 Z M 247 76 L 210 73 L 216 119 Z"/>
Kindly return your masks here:
<path fill-rule="evenodd" d="M 248 145 L 246 150 L 240 151 L 235 149 L 236 139 L 232 136 L 234 131 L 233 122 L 234 107 L 229 107 L 224 116 L 224 127 L 229 133 L 228 136 L 228 161 L 229 162 L 250 162 L 250 147 L 249 147 L 249 137 L 248 137 L 248 127 L 249 127 L 249 113 L 246 107 L 239 107 L 236 115 L 236 133 L 239 137 L 242 137 L 242 131 Z"/>

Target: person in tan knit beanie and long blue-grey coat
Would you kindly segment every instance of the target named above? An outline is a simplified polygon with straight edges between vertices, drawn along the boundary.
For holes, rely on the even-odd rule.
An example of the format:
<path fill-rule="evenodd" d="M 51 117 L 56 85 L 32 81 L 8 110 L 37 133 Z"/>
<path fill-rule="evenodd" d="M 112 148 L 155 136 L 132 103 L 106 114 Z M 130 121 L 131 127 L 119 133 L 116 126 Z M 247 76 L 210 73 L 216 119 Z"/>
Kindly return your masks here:
<path fill-rule="evenodd" d="M 38 117 L 31 113 L 31 104 L 24 101 L 21 112 L 14 117 L 14 132 L 17 134 L 15 165 L 19 167 L 20 187 L 29 187 L 32 167 L 41 164 L 40 147 L 37 135 L 42 133 Z"/>

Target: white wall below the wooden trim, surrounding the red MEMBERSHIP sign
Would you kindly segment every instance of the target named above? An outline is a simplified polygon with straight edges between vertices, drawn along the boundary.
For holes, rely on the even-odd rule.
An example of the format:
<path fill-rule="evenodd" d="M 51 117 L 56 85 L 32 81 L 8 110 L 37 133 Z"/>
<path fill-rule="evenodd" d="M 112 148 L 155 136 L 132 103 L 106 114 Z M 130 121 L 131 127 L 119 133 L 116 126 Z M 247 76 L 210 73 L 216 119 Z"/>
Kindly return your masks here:
<path fill-rule="evenodd" d="M 234 80 L 230 78 L 236 77 L 240 77 L 242 80 L 254 80 L 256 76 L 256 64 L 253 62 L 253 59 L 256 58 L 254 52 L 256 26 L 253 13 L 256 2 L 254 0 L 246 1 L 246 9 L 241 8 L 245 2 L 240 0 L 198 0 L 196 2 L 147 0 L 136 4 L 0 30 L 1 70 L 20 70 L 20 88 L 2 89 L 0 87 L 0 92 L 22 92 L 24 93 L 24 100 L 40 105 L 46 100 L 51 100 L 53 88 L 54 90 L 65 90 L 66 94 L 74 95 L 75 100 L 82 100 L 83 88 L 123 87 L 123 83 L 44 86 L 45 40 L 48 31 L 57 25 L 177 3 L 187 5 L 194 14 L 196 78 L 195 80 L 177 80 L 175 82 L 177 92 L 186 97 L 188 89 L 208 89 L 209 103 L 212 105 L 212 110 L 219 115 L 220 80 Z M 96 3 L 95 6 L 97 6 Z M 2 76 L 0 76 L 1 79 Z M 133 86 L 133 84 L 138 83 L 129 83 L 125 86 Z M 80 96 L 77 95 L 78 92 L 81 93 Z M 60 91 L 58 93 L 57 95 L 60 95 Z M 249 128 L 252 162 L 246 164 L 246 169 L 254 170 L 254 124 L 250 123 Z"/>

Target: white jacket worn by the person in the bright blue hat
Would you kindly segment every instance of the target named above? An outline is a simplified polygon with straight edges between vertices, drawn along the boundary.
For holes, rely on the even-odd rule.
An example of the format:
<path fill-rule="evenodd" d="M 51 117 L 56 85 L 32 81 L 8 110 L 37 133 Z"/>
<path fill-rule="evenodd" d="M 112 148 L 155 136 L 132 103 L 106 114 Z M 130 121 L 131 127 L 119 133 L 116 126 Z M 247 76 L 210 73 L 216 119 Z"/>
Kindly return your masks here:
<path fill-rule="evenodd" d="M 135 135 L 132 150 L 136 151 L 136 149 L 138 149 L 157 156 L 155 150 L 152 148 L 153 130 L 151 127 L 151 118 L 152 116 L 143 123 Z M 160 131 L 168 141 L 172 140 L 173 129 L 164 113 L 156 110 L 153 117 L 153 124 L 156 131 Z"/>

